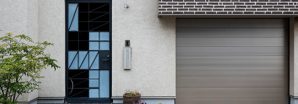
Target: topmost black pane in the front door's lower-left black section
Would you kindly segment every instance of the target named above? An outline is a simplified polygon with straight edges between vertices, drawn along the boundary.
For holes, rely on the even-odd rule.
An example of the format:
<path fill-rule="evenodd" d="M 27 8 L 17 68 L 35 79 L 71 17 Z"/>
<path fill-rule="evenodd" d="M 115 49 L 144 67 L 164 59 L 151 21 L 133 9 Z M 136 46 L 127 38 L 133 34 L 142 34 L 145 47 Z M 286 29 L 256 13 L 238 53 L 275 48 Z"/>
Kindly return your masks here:
<path fill-rule="evenodd" d="M 68 77 L 68 79 L 89 79 L 89 70 L 68 70 Z"/>

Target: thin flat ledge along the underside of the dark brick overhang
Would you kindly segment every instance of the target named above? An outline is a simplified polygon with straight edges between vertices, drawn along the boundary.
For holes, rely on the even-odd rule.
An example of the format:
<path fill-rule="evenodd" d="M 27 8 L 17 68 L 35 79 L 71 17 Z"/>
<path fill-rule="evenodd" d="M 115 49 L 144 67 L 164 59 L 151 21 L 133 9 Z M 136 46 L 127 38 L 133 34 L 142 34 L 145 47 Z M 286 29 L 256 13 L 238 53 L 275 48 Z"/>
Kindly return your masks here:
<path fill-rule="evenodd" d="M 298 14 L 158 14 L 158 17 L 176 18 L 291 18 Z"/>

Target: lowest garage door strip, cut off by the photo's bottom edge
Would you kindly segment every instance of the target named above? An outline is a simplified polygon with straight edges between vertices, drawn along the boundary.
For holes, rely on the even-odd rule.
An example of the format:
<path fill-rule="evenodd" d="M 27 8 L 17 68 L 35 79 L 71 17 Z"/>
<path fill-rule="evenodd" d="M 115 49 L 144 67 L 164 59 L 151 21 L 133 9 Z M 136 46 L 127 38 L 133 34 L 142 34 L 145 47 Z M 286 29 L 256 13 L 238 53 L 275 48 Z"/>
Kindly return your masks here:
<path fill-rule="evenodd" d="M 176 100 L 176 104 L 288 104 L 288 100 Z"/>

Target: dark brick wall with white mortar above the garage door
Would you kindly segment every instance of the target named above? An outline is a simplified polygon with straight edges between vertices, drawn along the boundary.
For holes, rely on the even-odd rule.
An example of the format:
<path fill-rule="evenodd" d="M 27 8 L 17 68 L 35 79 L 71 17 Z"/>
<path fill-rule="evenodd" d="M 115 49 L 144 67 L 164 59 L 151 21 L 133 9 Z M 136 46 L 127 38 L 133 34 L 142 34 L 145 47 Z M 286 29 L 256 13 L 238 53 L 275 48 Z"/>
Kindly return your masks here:
<path fill-rule="evenodd" d="M 298 0 L 159 0 L 159 14 L 298 14 Z"/>

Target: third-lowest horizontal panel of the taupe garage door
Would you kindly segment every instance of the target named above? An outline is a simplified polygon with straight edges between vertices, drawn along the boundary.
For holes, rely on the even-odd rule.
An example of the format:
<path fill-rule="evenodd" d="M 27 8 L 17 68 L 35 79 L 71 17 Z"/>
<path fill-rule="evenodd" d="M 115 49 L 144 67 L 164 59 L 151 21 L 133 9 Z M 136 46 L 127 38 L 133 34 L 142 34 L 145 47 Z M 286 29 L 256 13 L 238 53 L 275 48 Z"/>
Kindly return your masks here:
<path fill-rule="evenodd" d="M 288 78 L 177 78 L 176 89 L 283 89 Z"/>

